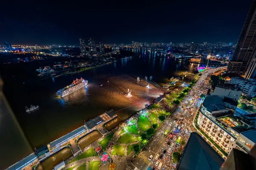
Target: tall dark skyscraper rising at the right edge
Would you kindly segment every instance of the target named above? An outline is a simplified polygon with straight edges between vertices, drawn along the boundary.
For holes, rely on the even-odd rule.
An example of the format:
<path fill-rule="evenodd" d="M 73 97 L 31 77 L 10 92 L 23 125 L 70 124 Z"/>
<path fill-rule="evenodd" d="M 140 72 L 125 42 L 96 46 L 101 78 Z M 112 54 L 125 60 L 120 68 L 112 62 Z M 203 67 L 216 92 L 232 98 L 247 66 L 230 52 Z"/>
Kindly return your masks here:
<path fill-rule="evenodd" d="M 239 40 L 233 54 L 233 60 L 228 64 L 228 72 L 241 74 L 244 77 L 250 78 L 253 75 L 255 62 L 250 64 L 256 54 L 256 0 L 253 0 L 250 10 L 247 14 L 244 26 L 242 28 Z M 250 69 L 248 72 L 247 69 Z M 248 74 L 247 74 L 248 72 Z M 246 74 L 246 75 L 245 75 Z"/>

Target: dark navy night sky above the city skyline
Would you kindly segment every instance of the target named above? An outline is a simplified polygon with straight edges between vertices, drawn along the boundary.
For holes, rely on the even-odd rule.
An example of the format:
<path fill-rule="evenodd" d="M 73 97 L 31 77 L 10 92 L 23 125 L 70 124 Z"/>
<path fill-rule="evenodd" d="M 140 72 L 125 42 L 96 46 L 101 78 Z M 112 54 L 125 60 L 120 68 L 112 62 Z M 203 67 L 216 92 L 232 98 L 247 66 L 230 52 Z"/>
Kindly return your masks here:
<path fill-rule="evenodd" d="M 78 44 L 79 37 L 105 43 L 236 43 L 251 4 L 251 0 L 138 1 L 5 0 L 0 7 L 0 45 Z"/>

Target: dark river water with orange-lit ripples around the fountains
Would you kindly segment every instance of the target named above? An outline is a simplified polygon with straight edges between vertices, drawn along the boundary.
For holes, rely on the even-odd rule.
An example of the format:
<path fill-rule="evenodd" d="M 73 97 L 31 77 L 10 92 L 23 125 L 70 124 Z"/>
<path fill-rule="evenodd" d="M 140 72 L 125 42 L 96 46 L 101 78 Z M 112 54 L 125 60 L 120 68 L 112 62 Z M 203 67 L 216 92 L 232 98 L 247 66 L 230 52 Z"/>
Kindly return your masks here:
<path fill-rule="evenodd" d="M 163 55 L 152 56 L 146 51 L 134 53 L 131 59 L 94 68 L 76 75 L 44 79 L 31 83 L 5 85 L 4 91 L 31 147 L 44 144 L 84 125 L 110 109 L 122 119 L 144 108 L 146 103 L 163 94 L 160 85 L 184 71 L 193 72 L 198 65 L 185 65 Z M 137 77 L 152 76 L 151 89 Z M 88 80 L 88 85 L 65 96 L 55 92 L 70 85 L 76 78 Z M 155 85 L 155 82 L 159 85 Z M 102 86 L 100 86 L 102 84 Z M 128 89 L 131 97 L 127 97 Z M 25 106 L 39 105 L 39 109 L 25 112 Z"/>

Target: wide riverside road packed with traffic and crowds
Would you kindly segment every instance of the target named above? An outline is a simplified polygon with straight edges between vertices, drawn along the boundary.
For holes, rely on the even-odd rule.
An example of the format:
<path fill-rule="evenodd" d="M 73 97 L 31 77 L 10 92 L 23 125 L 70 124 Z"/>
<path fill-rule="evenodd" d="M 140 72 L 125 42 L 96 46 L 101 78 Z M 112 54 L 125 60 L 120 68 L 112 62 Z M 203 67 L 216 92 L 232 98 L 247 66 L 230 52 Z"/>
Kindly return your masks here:
<path fill-rule="evenodd" d="M 148 144 L 146 144 L 145 147 L 143 147 L 142 152 L 133 159 L 133 161 L 131 162 L 132 165 L 129 164 L 126 170 L 134 169 L 135 167 L 140 170 L 147 170 L 148 167 L 157 167 L 155 165 L 157 160 L 154 159 L 157 154 L 163 154 L 162 159 L 158 158 L 158 160 L 163 163 L 161 168 L 171 169 L 172 153 L 176 152 L 177 148 L 180 147 L 179 144 L 176 144 L 177 137 L 181 136 L 181 139 L 186 141 L 189 138 L 190 132 L 196 131 L 192 125 L 192 122 L 195 114 L 198 111 L 199 103 L 201 102 L 199 98 L 201 94 L 207 93 L 207 89 L 210 87 L 208 80 L 209 76 L 214 73 L 215 70 L 218 70 L 218 68 L 203 72 L 202 76 L 199 77 L 198 82 L 192 87 L 188 95 L 183 99 L 183 102 L 181 102 L 177 108 L 173 108 L 175 109 L 175 111 L 171 112 L 171 116 L 169 116 L 169 118 L 166 119 L 161 127 L 158 128 L 154 137 L 149 140 Z M 207 82 L 205 80 L 207 80 Z M 180 111 L 180 109 L 182 109 L 182 111 Z M 177 122 L 175 121 L 175 119 L 177 119 Z M 182 123 L 182 128 L 178 133 L 176 131 L 173 131 L 173 128 L 177 123 Z M 163 136 L 166 129 L 169 130 L 169 133 L 175 132 L 173 139 L 170 140 L 170 143 L 174 143 L 173 147 L 170 147 L 165 142 L 166 139 L 169 140 L 168 136 Z M 170 153 L 163 153 L 163 150 L 167 151 L 169 148 L 171 150 Z M 153 156 L 153 158 L 151 159 L 151 161 L 149 161 L 148 158 L 151 155 Z"/>

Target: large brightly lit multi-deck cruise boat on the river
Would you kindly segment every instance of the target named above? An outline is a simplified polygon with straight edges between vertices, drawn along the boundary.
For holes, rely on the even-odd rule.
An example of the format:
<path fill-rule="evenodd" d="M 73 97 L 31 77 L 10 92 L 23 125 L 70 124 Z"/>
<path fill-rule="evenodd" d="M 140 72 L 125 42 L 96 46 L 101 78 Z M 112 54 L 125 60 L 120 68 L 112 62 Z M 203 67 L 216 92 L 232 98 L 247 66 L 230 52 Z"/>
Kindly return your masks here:
<path fill-rule="evenodd" d="M 87 84 L 88 84 L 88 81 L 83 79 L 82 77 L 80 79 L 76 78 L 76 80 L 74 80 L 71 85 L 68 85 L 67 87 L 58 90 L 56 92 L 56 95 L 60 96 L 60 97 L 67 96 L 67 95 L 73 93 L 74 91 L 77 91 L 80 88 L 83 88 Z"/>

